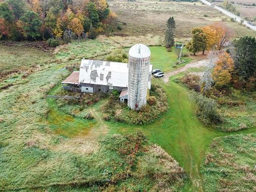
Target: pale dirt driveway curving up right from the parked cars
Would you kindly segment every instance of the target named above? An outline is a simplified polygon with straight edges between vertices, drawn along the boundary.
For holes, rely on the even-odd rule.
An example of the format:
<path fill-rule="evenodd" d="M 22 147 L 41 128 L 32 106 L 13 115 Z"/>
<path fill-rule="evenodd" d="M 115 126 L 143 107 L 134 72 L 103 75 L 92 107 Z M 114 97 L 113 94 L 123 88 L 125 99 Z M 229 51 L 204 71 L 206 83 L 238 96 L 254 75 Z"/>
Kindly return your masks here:
<path fill-rule="evenodd" d="M 200 67 L 204 67 L 207 65 L 207 62 L 208 62 L 208 59 L 205 59 L 205 60 L 201 60 L 201 61 L 194 61 L 194 62 L 190 62 L 188 63 L 187 65 L 181 67 L 181 68 L 178 68 L 174 71 L 171 71 L 171 72 L 168 72 L 168 73 L 165 73 L 164 74 L 164 82 L 168 82 L 169 81 L 169 78 L 170 76 L 173 76 L 173 75 L 177 75 L 178 73 L 181 73 L 181 72 L 185 72 L 187 69 L 189 68 L 200 68 Z"/>

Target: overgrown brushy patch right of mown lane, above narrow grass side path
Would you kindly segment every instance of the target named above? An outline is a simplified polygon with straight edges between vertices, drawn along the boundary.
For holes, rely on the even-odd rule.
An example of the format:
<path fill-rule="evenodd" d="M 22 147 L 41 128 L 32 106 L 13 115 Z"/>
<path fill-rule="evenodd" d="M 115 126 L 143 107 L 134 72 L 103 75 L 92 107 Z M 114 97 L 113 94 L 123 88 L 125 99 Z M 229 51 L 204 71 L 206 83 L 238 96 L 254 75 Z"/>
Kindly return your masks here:
<path fill-rule="evenodd" d="M 199 94 L 201 92 L 200 77 L 197 75 L 185 75 L 178 80 L 189 90 L 193 90 L 191 95 L 198 100 L 197 115 L 204 124 L 211 124 L 223 132 L 232 132 L 255 127 L 256 106 L 255 92 L 245 92 L 234 88 L 224 89 L 222 92 L 214 89 L 207 97 Z M 196 93 L 197 92 L 197 93 Z M 201 95 L 201 96 L 200 96 Z M 203 103 L 215 103 L 217 106 L 215 119 L 205 117 L 206 109 L 203 109 Z M 205 106 L 206 107 L 206 106 Z M 207 110 L 209 110 L 207 108 Z"/>

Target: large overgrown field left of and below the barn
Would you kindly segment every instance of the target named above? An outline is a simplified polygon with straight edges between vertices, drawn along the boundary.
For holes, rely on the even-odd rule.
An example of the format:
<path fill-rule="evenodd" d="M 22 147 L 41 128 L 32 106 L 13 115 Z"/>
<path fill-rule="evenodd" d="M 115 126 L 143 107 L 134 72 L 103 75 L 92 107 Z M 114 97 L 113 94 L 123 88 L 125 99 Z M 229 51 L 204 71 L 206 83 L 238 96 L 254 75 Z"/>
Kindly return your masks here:
<path fill-rule="evenodd" d="M 94 43 L 98 45 L 95 40 L 83 42 L 83 46 Z M 17 52 L 23 52 L 23 47 Z M 108 50 L 99 50 L 99 54 L 104 53 Z M 81 56 L 88 54 L 90 51 Z M 69 115 L 45 98 L 69 74 L 62 62 L 68 57 L 31 71 L 0 92 L 0 188 L 58 191 L 75 187 L 84 191 L 90 183 L 88 190 L 176 190 L 184 185 L 183 169 L 142 135 L 113 136 L 99 142 L 94 135 L 88 140 L 88 134 L 102 128 L 95 120 Z"/>

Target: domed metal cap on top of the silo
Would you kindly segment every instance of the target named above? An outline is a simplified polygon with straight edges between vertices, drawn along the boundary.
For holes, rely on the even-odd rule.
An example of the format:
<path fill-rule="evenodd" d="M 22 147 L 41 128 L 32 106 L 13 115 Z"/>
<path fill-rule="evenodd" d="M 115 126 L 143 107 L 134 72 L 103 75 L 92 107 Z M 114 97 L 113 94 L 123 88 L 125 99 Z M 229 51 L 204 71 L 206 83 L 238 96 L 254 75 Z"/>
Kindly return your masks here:
<path fill-rule="evenodd" d="M 151 55 L 150 49 L 144 44 L 136 44 L 131 47 L 129 55 L 135 58 L 145 58 Z"/>

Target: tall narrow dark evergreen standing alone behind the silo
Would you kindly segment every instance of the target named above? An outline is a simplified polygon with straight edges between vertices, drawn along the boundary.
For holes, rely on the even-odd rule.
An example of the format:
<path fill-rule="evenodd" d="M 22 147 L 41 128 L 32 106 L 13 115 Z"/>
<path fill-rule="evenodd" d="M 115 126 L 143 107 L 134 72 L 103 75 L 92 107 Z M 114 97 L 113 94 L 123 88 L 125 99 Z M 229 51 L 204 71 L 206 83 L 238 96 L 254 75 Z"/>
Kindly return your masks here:
<path fill-rule="evenodd" d="M 165 32 L 166 48 L 170 48 L 174 46 L 174 34 L 175 34 L 175 28 L 176 28 L 174 17 L 170 17 L 167 20 L 166 27 L 167 27 Z"/>

